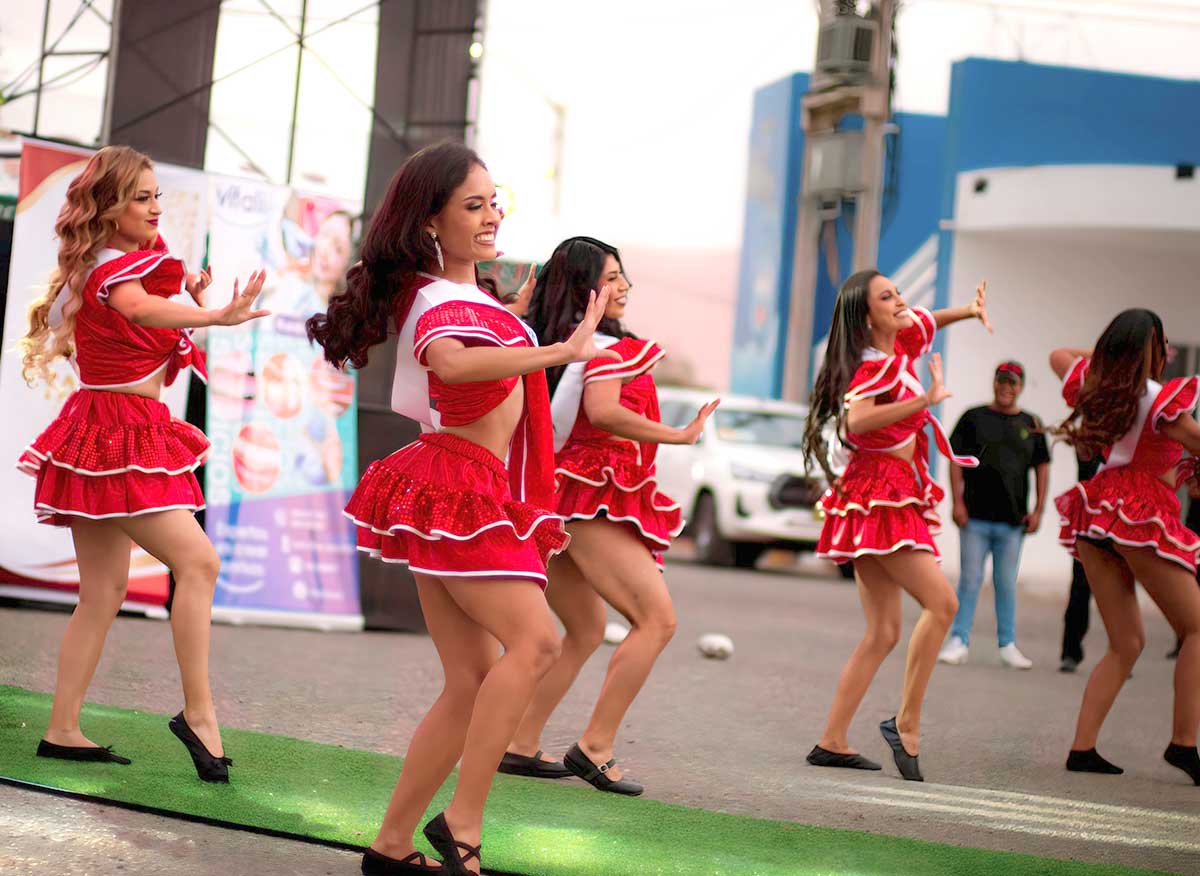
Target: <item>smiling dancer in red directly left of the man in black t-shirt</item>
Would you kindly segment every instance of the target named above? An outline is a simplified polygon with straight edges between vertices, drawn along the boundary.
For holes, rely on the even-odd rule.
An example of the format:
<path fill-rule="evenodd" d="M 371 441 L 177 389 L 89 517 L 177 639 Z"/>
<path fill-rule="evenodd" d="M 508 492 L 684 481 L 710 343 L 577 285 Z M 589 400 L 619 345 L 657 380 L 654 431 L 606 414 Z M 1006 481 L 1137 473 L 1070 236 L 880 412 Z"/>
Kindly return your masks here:
<path fill-rule="evenodd" d="M 949 397 L 941 356 L 930 358 L 928 390 L 913 362 L 932 349 L 937 329 L 961 319 L 979 319 L 991 330 L 986 283 L 970 305 L 932 313 L 910 308 L 895 284 L 874 270 L 854 274 L 838 293 L 804 448 L 834 484 L 821 500 L 826 520 L 817 556 L 854 564 L 866 634 L 838 679 L 824 733 L 809 752 L 809 763 L 818 767 L 880 769 L 850 746 L 850 722 L 900 640 L 900 592 L 906 590 L 922 612 L 908 640 L 900 710 L 880 725 L 880 732 L 900 774 L 923 781 L 917 760 L 920 707 L 937 650 L 958 611 L 932 539 L 940 522 L 935 509 L 943 493 L 929 472 L 925 427 L 932 426 L 937 449 L 955 464 L 978 462 L 954 456 L 944 430 L 929 412 Z M 840 479 L 828 461 L 830 422 L 851 451 Z"/>

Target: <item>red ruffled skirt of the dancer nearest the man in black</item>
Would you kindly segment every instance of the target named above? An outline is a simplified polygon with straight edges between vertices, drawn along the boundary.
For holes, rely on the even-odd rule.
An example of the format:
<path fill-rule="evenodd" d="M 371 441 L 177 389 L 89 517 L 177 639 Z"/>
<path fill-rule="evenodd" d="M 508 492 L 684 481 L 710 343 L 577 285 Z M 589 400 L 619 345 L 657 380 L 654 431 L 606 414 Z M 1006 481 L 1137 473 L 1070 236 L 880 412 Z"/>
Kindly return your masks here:
<path fill-rule="evenodd" d="M 858 451 L 841 478 L 841 492 L 821 499 L 824 526 L 817 556 L 845 563 L 902 548 L 929 551 L 938 559 L 934 535 L 941 527 L 936 484 L 923 485 L 911 462 L 892 454 Z"/>

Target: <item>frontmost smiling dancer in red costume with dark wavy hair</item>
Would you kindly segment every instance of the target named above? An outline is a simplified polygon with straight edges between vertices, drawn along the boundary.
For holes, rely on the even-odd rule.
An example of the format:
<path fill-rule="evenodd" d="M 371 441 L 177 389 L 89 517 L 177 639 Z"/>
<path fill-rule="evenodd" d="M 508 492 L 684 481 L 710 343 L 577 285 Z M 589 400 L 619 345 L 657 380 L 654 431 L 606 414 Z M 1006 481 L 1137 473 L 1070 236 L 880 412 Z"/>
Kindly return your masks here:
<path fill-rule="evenodd" d="M 479 288 L 475 263 L 496 258 L 499 224 L 479 156 L 454 143 L 422 149 L 392 179 L 347 292 L 308 320 L 337 366 L 362 367 L 371 347 L 397 330 L 392 407 L 430 430 L 371 463 L 346 506 L 362 550 L 415 574 L 445 673 L 362 858 L 365 874 L 479 872 L 492 778 L 559 653 L 541 588 L 546 560 L 568 536 L 548 510 L 554 463 L 544 368 L 617 356 L 592 338 L 604 293 L 589 299 L 570 337 L 539 347 Z M 425 826 L 443 856 L 437 868 L 414 850 L 413 832 L 460 757 L 450 805 Z"/>

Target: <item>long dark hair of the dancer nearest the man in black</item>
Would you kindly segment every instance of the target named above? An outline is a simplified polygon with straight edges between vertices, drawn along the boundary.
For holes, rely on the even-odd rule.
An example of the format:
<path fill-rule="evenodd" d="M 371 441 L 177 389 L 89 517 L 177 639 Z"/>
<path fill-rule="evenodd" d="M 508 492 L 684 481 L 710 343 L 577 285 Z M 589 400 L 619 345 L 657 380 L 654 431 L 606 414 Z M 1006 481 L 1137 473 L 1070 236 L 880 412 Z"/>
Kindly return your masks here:
<path fill-rule="evenodd" d="M 809 420 L 804 426 L 804 452 L 808 464 L 814 460 L 821 466 L 826 478 L 833 484 L 836 478 L 829 466 L 829 448 L 826 442 L 826 425 L 834 421 L 839 438 L 845 437 L 846 406 L 842 402 L 863 353 L 871 346 L 871 329 L 868 325 L 868 289 L 880 271 L 870 268 L 852 274 L 838 292 L 833 306 L 833 324 L 826 358 L 817 372 L 809 400 Z"/>

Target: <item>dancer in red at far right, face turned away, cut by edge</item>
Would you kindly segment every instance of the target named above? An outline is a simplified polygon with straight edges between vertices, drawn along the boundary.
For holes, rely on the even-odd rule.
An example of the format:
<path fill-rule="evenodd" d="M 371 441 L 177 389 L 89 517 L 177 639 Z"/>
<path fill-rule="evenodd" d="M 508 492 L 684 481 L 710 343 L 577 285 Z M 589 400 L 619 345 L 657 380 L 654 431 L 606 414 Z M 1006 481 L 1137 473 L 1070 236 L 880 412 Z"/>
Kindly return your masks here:
<path fill-rule="evenodd" d="M 1096 350 L 1056 349 L 1050 367 L 1063 379 L 1073 408 L 1062 431 L 1084 457 L 1103 454 L 1096 476 L 1055 499 L 1058 540 L 1078 557 L 1109 634 L 1109 649 L 1084 690 L 1067 769 L 1121 773 L 1096 751 L 1104 718 L 1129 677 L 1146 635 L 1134 581 L 1182 640 L 1175 666 L 1175 718 L 1163 757 L 1200 785 L 1200 535 L 1180 522 L 1176 491 L 1186 480 L 1200 498 L 1195 456 L 1200 426 L 1193 418 L 1200 378 L 1159 384 L 1166 365 L 1163 323 L 1151 311 L 1123 311 Z M 1183 450 L 1193 456 L 1183 460 Z"/>

